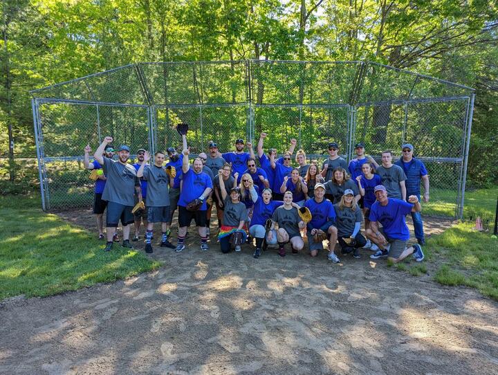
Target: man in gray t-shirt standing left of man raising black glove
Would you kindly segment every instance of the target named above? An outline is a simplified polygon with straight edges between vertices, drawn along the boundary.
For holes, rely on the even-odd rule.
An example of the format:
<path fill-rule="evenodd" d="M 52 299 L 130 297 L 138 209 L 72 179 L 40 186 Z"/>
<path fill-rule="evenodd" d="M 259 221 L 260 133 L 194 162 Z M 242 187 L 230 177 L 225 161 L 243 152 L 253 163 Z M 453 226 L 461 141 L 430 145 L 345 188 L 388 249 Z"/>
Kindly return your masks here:
<path fill-rule="evenodd" d="M 169 242 L 169 187 L 173 187 L 176 170 L 174 167 L 163 167 L 166 155 L 158 151 L 154 154 L 154 164 L 147 165 L 151 156 L 145 152 L 142 165 L 138 168 L 137 176 L 143 177 L 147 181 L 147 232 L 145 234 L 145 252 L 152 253 L 151 239 L 154 232 L 154 223 L 161 223 L 163 235 L 161 237 L 161 247 L 175 248 Z"/>

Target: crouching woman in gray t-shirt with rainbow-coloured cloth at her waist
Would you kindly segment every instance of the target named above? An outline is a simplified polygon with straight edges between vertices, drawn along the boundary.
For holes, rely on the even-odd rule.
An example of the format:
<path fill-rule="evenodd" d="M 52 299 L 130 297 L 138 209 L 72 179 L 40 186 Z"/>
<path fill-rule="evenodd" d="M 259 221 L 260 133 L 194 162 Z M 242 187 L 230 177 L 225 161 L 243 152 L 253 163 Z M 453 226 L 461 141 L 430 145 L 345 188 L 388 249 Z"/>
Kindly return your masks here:
<path fill-rule="evenodd" d="M 239 187 L 230 189 L 230 196 L 225 190 L 225 181 L 222 177 L 223 171 L 219 170 L 219 184 L 221 199 L 223 199 L 223 226 L 218 235 L 221 253 L 229 253 L 231 245 L 234 244 L 235 251 L 241 250 L 241 244 L 247 239 L 246 230 L 243 230 L 246 221 L 249 221 L 246 205 L 240 201 Z"/>

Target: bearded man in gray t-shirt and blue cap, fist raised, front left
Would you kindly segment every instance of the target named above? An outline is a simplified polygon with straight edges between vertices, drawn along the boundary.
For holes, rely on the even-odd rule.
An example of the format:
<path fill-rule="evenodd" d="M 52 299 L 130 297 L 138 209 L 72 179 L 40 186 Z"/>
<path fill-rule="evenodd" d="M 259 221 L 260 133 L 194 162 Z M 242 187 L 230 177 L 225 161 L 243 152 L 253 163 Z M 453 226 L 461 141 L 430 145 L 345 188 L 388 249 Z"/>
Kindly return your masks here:
<path fill-rule="evenodd" d="M 118 222 L 121 221 L 123 242 L 125 248 L 133 248 L 129 241 L 129 224 L 133 223 L 131 210 L 135 205 L 134 195 L 138 196 L 138 201 L 142 201 L 142 190 L 140 180 L 136 175 L 136 170 L 127 163 L 130 149 L 127 145 L 118 148 L 118 161 L 114 161 L 107 156 L 103 156 L 107 145 L 113 140 L 112 137 L 105 137 L 93 157 L 104 168 L 107 176 L 102 199 L 107 201 L 107 244 L 105 251 L 110 251 L 113 247 L 113 234 L 116 232 Z"/>

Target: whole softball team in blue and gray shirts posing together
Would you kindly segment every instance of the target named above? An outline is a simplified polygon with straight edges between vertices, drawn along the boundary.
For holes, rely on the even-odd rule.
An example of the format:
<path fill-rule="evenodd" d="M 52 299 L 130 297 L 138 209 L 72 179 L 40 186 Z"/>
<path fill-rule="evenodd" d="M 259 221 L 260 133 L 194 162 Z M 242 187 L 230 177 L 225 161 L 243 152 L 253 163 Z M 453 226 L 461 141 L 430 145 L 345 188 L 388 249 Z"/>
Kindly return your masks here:
<path fill-rule="evenodd" d="M 119 241 L 116 228 L 121 221 L 122 246 L 133 248 L 131 224 L 135 228 L 132 241 L 138 241 L 143 223 L 145 251 L 152 253 L 154 223 L 160 223 L 160 246 L 180 253 L 185 249 L 192 219 L 199 231 L 201 250 L 209 250 L 210 219 L 216 206 L 217 237 L 223 253 L 232 248 L 241 251 L 241 244 L 250 241 L 255 246 L 255 258 L 267 246 L 277 246 L 284 257 L 287 244 L 292 253 L 298 253 L 307 239 L 312 257 L 326 244 L 328 259 L 334 263 L 340 262 L 337 243 L 342 255 L 356 258 L 361 257 L 363 248 L 373 252 L 373 259 L 400 262 L 409 255 L 417 262 L 424 259 L 421 183 L 427 202 L 429 178 L 423 162 L 414 157 L 411 144 L 402 146 L 402 156 L 395 163 L 391 151 L 382 152 L 382 164 L 378 165 L 365 154 L 362 143 L 355 145 L 356 158 L 347 163 L 339 154 L 338 143 L 331 142 L 329 157 L 319 164 L 307 163 L 302 149 L 293 156 L 295 139 L 281 157 L 277 157 L 276 149 L 265 153 L 267 134 L 261 133 L 256 153 L 252 143 L 243 139 L 235 141 L 234 151 L 223 154 L 211 141 L 208 152 L 201 152 L 190 164 L 187 138 L 185 134 L 181 138 L 181 153 L 169 147 L 152 156 L 138 149 L 135 164 L 129 163 L 129 147 L 121 145 L 115 151 L 109 136 L 95 150 L 92 162 L 91 148 L 85 147 L 84 167 L 99 172 L 95 174 L 93 212 L 101 239 L 107 209 L 104 250 L 111 250 L 113 241 Z M 118 158 L 113 158 L 115 152 Z M 175 246 L 170 227 L 177 209 Z M 407 214 L 412 215 L 417 240 L 412 246 L 408 244 Z"/>

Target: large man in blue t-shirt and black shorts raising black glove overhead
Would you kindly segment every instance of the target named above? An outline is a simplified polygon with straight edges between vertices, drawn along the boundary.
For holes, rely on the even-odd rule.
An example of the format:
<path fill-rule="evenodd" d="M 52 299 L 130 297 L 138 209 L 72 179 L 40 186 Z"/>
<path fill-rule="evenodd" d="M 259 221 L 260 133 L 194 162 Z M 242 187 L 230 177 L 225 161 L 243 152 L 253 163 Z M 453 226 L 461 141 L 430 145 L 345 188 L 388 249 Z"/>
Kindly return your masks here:
<path fill-rule="evenodd" d="M 185 135 L 182 136 L 184 145 L 187 144 Z M 208 236 L 206 235 L 206 215 L 208 209 L 206 199 L 212 192 L 212 181 L 208 174 L 203 172 L 203 162 L 200 158 L 195 158 L 193 168 L 190 169 L 189 155 L 190 149 L 183 149 L 183 164 L 182 164 L 182 190 L 180 199 L 178 199 L 178 244 L 176 246 L 176 253 L 180 253 L 185 249 L 185 236 L 187 235 L 187 228 L 190 226 L 192 219 L 195 220 L 199 236 L 201 237 L 201 250 L 209 250 Z M 189 211 L 187 205 L 194 199 L 202 201 L 199 210 Z"/>

